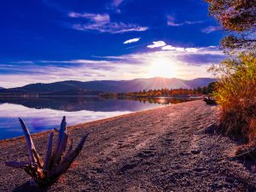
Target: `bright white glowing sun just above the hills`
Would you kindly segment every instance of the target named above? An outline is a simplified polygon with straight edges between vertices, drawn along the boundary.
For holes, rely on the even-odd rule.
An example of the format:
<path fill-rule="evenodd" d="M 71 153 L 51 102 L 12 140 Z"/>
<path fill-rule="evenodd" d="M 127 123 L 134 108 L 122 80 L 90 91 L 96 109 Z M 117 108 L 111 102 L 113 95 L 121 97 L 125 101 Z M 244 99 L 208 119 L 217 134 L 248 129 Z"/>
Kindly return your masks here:
<path fill-rule="evenodd" d="M 148 67 L 148 78 L 174 78 L 177 76 L 177 70 L 177 64 L 170 58 L 158 57 L 150 62 Z"/>

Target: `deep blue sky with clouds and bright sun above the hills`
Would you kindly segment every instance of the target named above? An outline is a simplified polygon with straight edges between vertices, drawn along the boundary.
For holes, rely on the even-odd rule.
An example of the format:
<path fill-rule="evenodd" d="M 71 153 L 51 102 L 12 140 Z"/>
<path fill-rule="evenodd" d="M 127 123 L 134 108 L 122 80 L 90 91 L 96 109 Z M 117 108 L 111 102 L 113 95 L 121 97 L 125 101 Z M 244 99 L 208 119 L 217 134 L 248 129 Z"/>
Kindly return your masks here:
<path fill-rule="evenodd" d="M 0 86 L 212 77 L 224 58 L 203 0 L 3 0 Z"/>

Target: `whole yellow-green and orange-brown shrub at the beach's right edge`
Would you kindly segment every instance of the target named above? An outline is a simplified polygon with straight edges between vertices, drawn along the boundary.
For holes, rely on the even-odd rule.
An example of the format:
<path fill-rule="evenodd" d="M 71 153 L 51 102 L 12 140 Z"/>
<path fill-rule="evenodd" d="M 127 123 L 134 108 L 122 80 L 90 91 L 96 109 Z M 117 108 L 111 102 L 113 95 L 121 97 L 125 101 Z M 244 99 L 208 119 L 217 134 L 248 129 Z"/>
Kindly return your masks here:
<path fill-rule="evenodd" d="M 213 97 L 221 106 L 220 127 L 256 146 L 256 57 L 242 52 L 210 71 L 219 75 Z"/>

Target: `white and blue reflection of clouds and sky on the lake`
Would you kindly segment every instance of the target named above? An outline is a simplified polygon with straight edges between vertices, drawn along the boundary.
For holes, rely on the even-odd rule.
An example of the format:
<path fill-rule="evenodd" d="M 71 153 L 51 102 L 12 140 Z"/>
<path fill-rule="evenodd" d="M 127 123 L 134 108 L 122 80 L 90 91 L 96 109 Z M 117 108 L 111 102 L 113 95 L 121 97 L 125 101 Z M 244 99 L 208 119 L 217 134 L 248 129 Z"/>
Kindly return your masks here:
<path fill-rule="evenodd" d="M 67 125 L 76 125 L 125 113 L 130 113 L 130 111 L 93 112 L 81 110 L 66 112 L 49 108 L 26 108 L 22 105 L 3 103 L 0 105 L 0 139 L 22 136 L 18 117 L 25 120 L 29 130 L 33 133 L 58 127 L 63 116 L 67 116 Z"/>

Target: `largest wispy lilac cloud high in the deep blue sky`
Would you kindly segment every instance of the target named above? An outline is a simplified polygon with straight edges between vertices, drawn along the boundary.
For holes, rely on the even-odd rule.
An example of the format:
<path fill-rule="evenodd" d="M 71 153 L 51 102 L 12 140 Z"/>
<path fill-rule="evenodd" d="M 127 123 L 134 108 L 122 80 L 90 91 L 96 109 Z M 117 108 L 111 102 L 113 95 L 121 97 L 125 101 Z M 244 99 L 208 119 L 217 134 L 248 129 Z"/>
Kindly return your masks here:
<path fill-rule="evenodd" d="M 136 24 L 125 24 L 122 22 L 111 22 L 108 14 L 89 14 L 89 13 L 69 13 L 71 18 L 84 18 L 84 23 L 73 24 L 71 27 L 79 31 L 96 31 L 108 33 L 124 33 L 124 32 L 144 32 L 148 30 L 147 26 L 138 26 Z M 87 22 L 86 22 L 87 21 Z"/>

